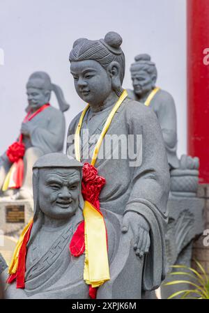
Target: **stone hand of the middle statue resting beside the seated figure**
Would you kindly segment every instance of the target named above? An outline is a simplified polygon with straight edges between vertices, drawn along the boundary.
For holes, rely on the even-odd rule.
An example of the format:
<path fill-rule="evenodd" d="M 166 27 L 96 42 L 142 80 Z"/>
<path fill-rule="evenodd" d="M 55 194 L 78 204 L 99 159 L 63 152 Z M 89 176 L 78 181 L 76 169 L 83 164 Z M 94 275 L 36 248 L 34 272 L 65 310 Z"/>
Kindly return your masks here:
<path fill-rule="evenodd" d="M 123 216 L 121 231 L 127 233 L 131 227 L 134 234 L 134 250 L 141 258 L 145 253 L 148 253 L 150 247 L 150 227 L 146 219 L 135 212 L 127 212 Z"/>

